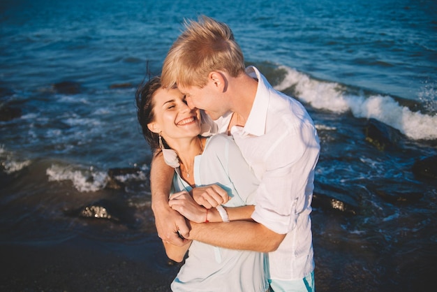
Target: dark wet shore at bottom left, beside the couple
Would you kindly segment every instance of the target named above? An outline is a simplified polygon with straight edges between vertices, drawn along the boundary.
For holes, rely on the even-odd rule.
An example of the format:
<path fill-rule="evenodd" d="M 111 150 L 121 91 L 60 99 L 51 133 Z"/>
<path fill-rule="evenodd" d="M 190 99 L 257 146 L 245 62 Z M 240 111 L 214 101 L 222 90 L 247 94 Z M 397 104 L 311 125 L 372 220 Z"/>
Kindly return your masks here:
<path fill-rule="evenodd" d="M 0 291 L 170 291 L 179 267 L 167 263 L 156 243 L 119 251 L 82 238 L 51 246 L 1 245 Z"/>

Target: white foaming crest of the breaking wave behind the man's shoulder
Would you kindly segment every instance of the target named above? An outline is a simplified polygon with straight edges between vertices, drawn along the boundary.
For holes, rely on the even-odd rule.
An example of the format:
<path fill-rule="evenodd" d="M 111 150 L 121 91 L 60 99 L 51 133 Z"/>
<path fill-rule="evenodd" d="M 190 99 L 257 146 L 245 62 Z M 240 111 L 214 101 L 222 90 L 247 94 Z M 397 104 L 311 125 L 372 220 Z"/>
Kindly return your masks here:
<path fill-rule="evenodd" d="M 297 98 L 304 103 L 310 103 L 313 108 L 330 110 L 332 112 L 350 112 L 355 117 L 374 118 L 384 124 L 401 131 L 411 139 L 437 139 L 437 114 L 427 115 L 422 112 L 412 112 L 400 105 L 391 96 L 352 95 L 346 88 L 335 82 L 325 82 L 310 78 L 292 68 L 281 66 L 287 71 L 286 78 L 275 88 L 283 90 L 295 87 Z M 424 89 L 422 100 L 426 98 L 427 108 L 432 111 L 436 106 L 434 87 Z"/>

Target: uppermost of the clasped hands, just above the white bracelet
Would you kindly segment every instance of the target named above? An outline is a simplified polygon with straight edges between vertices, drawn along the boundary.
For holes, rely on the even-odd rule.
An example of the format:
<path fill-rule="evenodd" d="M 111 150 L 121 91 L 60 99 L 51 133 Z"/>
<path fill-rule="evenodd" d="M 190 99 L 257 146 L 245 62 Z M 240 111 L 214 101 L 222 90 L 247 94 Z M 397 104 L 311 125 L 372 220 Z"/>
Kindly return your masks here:
<path fill-rule="evenodd" d="M 196 187 L 191 193 L 195 202 L 207 209 L 217 207 L 230 200 L 228 192 L 218 187 L 217 184 L 210 184 L 206 187 Z"/>

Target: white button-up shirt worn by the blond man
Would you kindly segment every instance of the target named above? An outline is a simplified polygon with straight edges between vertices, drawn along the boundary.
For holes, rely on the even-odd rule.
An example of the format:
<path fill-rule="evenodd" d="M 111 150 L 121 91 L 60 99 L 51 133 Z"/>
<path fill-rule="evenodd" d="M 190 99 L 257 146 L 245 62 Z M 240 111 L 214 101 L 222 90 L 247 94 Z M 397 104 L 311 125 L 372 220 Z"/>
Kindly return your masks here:
<path fill-rule="evenodd" d="M 258 89 L 246 125 L 233 126 L 231 133 L 260 180 L 252 218 L 286 234 L 269 253 L 269 278 L 302 279 L 314 269 L 310 213 L 320 152 L 316 127 L 302 104 L 273 89 L 257 68 L 249 66 L 246 73 L 258 79 Z M 216 122 L 226 129 L 230 115 Z"/>

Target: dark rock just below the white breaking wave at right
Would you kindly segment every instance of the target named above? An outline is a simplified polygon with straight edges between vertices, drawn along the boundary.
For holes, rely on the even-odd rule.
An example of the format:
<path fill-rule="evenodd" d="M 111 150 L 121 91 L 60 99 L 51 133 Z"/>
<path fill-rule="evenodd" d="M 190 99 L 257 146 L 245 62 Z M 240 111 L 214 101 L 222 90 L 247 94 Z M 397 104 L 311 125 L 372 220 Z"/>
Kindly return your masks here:
<path fill-rule="evenodd" d="M 394 149 L 401 140 L 402 133 L 377 119 L 369 119 L 364 127 L 366 141 L 375 145 L 380 151 Z"/>

